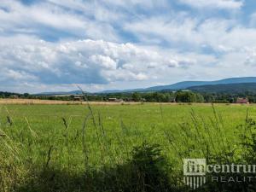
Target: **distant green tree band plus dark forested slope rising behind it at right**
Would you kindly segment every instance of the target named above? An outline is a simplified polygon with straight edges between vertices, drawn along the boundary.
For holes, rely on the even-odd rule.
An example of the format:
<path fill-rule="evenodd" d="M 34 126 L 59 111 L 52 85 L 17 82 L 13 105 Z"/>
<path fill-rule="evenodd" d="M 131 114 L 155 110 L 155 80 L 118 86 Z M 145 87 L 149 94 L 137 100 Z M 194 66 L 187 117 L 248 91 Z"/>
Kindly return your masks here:
<path fill-rule="evenodd" d="M 71 96 L 38 96 L 0 92 L 0 98 L 26 98 L 43 100 L 73 101 L 79 95 Z M 85 100 L 84 96 L 80 96 Z M 237 98 L 247 98 L 249 102 L 256 103 L 256 84 L 215 84 L 190 87 L 188 90 L 161 90 L 151 92 L 124 92 L 101 93 L 86 95 L 88 101 L 108 102 L 218 102 L 235 103 Z"/>

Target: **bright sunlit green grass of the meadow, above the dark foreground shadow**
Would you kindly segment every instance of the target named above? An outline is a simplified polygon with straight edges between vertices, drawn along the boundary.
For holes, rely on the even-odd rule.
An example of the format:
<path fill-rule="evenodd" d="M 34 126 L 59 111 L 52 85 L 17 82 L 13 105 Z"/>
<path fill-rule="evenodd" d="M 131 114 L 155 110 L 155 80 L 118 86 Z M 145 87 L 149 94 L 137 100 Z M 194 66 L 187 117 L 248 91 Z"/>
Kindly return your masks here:
<path fill-rule="evenodd" d="M 211 105 L 197 104 L 91 107 L 96 125 L 84 105 L 1 105 L 1 156 L 9 157 L 4 164 L 15 165 L 17 180 L 26 180 L 32 177 L 31 172 L 53 167 L 83 174 L 90 169 L 122 165 L 131 159 L 132 148 L 147 142 L 160 144 L 162 153 L 170 163 L 178 165 L 178 171 L 182 170 L 179 152 L 185 155 L 189 151 L 188 155 L 198 158 L 203 155 L 194 146 L 202 141 L 189 141 L 189 133 L 184 135 L 182 125 L 188 124 L 190 129 L 193 113 L 211 125 L 215 115 Z M 215 110 L 223 118 L 222 128 L 230 145 L 236 143 L 236 126 L 243 123 L 247 110 L 250 117 L 256 116 L 254 106 L 216 105 Z M 202 137 L 207 137 L 203 129 L 202 125 Z M 196 129 L 191 131 L 192 137 Z M 213 127 L 210 134 L 216 134 L 213 143 L 220 146 L 218 131 Z M 2 172 L 2 177 L 8 180 L 8 173 Z"/>

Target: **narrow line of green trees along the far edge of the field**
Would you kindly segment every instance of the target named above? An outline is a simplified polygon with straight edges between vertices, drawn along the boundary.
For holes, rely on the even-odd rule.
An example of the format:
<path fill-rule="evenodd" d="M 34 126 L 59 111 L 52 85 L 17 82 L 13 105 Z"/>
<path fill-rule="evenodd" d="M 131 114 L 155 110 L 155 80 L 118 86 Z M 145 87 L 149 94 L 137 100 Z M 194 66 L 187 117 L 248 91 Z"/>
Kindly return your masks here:
<path fill-rule="evenodd" d="M 37 96 L 28 93 L 15 94 L 0 92 L 0 98 L 25 98 L 42 100 L 74 101 L 77 95 L 72 96 Z M 83 96 L 81 96 L 83 97 Z M 237 98 L 247 98 L 249 102 L 256 103 L 256 93 L 245 91 L 243 93 L 204 93 L 196 91 L 159 91 L 159 92 L 133 92 L 133 93 L 102 93 L 87 94 L 89 101 L 108 102 L 115 98 L 124 102 L 216 102 L 235 103 Z M 83 99 L 83 98 L 82 98 Z"/>

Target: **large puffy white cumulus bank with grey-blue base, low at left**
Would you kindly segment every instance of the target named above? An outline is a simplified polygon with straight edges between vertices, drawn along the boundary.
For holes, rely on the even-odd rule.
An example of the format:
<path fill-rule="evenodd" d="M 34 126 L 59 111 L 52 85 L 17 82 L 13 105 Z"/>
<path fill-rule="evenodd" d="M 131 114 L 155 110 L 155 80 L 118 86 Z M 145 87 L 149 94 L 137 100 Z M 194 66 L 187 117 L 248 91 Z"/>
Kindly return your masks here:
<path fill-rule="evenodd" d="M 4 41 L 3 41 L 4 42 Z M 0 83 L 108 84 L 146 80 L 152 73 L 195 63 L 134 44 L 103 40 L 0 43 Z M 155 65 L 154 65 L 155 64 Z M 151 70 L 154 65 L 154 70 Z"/>

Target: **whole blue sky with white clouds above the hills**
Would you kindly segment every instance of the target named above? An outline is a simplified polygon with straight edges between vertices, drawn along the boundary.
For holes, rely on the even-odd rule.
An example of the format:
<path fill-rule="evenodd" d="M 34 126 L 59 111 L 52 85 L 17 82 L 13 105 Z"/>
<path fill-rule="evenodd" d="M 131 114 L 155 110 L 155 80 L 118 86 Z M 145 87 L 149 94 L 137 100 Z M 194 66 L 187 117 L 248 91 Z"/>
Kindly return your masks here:
<path fill-rule="evenodd" d="M 1 0 L 0 90 L 256 76 L 255 0 Z"/>

